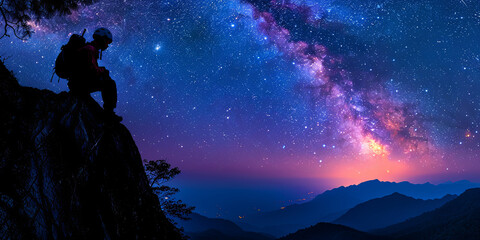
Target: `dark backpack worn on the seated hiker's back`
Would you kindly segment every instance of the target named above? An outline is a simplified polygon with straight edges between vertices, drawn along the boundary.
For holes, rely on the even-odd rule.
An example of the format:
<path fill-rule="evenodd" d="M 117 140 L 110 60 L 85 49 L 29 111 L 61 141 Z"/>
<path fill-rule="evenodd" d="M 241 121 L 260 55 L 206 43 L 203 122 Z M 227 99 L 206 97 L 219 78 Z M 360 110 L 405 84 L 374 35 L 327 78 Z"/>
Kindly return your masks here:
<path fill-rule="evenodd" d="M 85 34 L 86 29 L 83 30 L 82 35 L 73 34 L 68 43 L 63 45 L 60 49 L 60 54 L 58 54 L 57 59 L 55 60 L 54 74 L 64 79 L 69 79 L 71 77 L 72 71 L 75 67 L 75 62 L 77 58 L 77 50 L 86 45 Z M 50 79 L 50 82 L 53 79 Z M 59 80 L 60 81 L 60 80 Z"/>

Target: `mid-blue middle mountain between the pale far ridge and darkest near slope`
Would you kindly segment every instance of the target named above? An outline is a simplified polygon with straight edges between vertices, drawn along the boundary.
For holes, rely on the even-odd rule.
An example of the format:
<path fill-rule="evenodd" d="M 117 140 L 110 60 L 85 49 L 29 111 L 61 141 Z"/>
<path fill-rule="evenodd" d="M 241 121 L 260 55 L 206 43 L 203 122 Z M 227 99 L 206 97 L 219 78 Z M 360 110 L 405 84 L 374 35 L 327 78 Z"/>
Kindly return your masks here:
<path fill-rule="evenodd" d="M 446 195 L 441 199 L 423 200 L 395 192 L 360 203 L 333 223 L 361 231 L 384 228 L 439 208 L 456 197 L 457 195 Z"/>

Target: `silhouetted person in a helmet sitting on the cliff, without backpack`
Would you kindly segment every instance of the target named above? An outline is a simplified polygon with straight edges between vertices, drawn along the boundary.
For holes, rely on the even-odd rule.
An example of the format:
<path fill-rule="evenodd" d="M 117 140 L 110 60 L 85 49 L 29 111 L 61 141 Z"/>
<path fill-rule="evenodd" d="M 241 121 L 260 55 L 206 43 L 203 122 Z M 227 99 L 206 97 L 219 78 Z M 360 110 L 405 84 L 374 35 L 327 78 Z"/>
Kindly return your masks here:
<path fill-rule="evenodd" d="M 78 96 L 100 91 L 106 120 L 120 122 L 122 117 L 113 111 L 117 107 L 117 85 L 110 78 L 109 71 L 99 67 L 97 62 L 110 43 L 112 33 L 108 29 L 95 30 L 93 41 L 80 48 L 76 54 L 74 74 L 69 78 L 68 88 Z"/>

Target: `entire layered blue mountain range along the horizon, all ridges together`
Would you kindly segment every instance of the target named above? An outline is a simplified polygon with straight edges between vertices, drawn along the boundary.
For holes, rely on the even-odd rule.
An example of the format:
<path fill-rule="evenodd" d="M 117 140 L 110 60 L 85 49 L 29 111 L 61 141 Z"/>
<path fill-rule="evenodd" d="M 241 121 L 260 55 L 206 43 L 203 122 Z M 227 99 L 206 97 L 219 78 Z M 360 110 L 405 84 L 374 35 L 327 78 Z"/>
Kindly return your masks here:
<path fill-rule="evenodd" d="M 229 220 L 207 218 L 199 214 L 192 214 L 191 220 L 179 221 L 179 224 L 192 240 L 273 240 L 278 237 L 282 237 L 281 240 L 478 240 L 480 188 L 462 193 L 462 190 L 476 185 L 480 184 L 460 181 L 432 185 L 373 180 L 332 189 L 309 203 L 290 206 L 285 212 L 288 215 L 280 215 L 280 221 L 273 217 L 279 212 L 284 213 L 282 211 L 264 213 L 263 219 L 267 221 L 265 216 L 268 216 L 271 222 L 257 225 L 245 222 L 235 224 Z M 451 195 L 459 193 L 462 194 L 458 197 Z M 371 197 L 381 194 L 384 195 Z M 445 196 L 424 200 L 407 194 L 417 198 L 441 194 Z M 359 202 L 365 198 L 367 200 Z M 354 202 L 359 203 L 353 204 Z M 338 211 L 349 205 L 350 208 Z M 308 207 L 310 213 L 306 214 Z M 305 214 L 307 220 L 301 218 L 301 214 Z M 287 216 L 292 218 L 285 221 Z M 302 227 L 301 224 L 306 224 L 307 221 L 321 219 L 319 216 L 330 219 L 332 223 L 320 220 Z M 332 216 L 336 216 L 336 219 L 332 220 Z M 303 229 L 298 230 L 301 228 Z"/>

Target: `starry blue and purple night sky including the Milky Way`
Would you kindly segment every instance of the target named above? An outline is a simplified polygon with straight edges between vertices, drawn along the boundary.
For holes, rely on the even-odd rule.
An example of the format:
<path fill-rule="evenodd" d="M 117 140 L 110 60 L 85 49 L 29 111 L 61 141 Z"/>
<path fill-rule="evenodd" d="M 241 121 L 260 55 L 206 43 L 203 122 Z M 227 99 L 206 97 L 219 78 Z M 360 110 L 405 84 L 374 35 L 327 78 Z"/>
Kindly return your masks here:
<path fill-rule="evenodd" d="M 480 180 L 478 1 L 102 0 L 32 25 L 0 56 L 55 92 L 68 36 L 112 31 L 117 113 L 208 216 L 375 178 Z"/>

